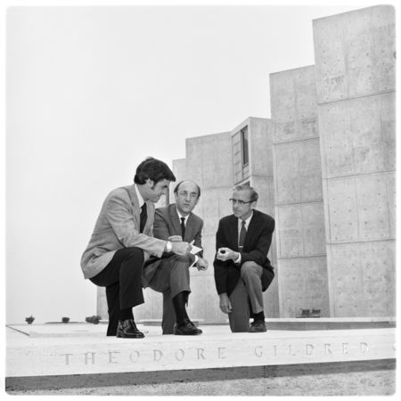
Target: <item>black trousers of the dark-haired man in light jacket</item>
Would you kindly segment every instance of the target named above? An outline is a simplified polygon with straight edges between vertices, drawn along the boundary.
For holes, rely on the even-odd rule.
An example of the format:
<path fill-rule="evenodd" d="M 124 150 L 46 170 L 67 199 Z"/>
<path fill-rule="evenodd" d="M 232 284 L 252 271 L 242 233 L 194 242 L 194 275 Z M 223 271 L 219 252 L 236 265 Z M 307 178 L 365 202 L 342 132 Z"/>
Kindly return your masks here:
<path fill-rule="evenodd" d="M 119 311 L 141 305 L 143 250 L 135 247 L 118 250 L 110 263 L 91 278 L 91 282 L 106 287 L 109 310 L 107 335 L 115 336 L 119 324 Z M 117 322 L 117 323 L 116 323 Z"/>

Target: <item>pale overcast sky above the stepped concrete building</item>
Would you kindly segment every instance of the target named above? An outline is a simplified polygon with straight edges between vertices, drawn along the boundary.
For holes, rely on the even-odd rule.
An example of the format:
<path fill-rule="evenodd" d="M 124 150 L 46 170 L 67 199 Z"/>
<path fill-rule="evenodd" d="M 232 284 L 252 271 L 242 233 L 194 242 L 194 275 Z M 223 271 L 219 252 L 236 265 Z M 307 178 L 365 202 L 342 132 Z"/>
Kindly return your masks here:
<path fill-rule="evenodd" d="M 95 315 L 80 258 L 106 195 L 270 118 L 269 74 L 315 63 L 312 20 L 372 5 L 80 3 L 4 9 L 5 323 Z"/>

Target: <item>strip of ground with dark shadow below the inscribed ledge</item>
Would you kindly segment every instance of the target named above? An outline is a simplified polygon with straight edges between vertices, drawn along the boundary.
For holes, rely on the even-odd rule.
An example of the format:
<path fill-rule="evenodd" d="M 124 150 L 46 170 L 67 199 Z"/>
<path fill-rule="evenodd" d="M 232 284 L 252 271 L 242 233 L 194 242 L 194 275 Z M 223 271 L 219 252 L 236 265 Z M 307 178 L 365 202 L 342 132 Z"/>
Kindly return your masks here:
<path fill-rule="evenodd" d="M 12 395 L 387 396 L 396 360 L 5 379 Z"/>

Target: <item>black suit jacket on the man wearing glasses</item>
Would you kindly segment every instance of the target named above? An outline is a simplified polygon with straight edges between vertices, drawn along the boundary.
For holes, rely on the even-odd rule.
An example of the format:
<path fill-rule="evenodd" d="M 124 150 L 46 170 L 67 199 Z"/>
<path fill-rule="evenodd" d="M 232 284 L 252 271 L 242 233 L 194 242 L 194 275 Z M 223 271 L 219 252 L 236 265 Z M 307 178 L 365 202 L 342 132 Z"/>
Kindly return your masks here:
<path fill-rule="evenodd" d="M 253 261 L 263 267 L 262 291 L 266 291 L 274 277 L 274 268 L 267 258 L 267 253 L 272 243 L 274 232 L 274 218 L 256 209 L 250 219 L 247 235 L 241 253 L 241 265 Z M 229 248 L 235 252 L 238 249 L 238 218 L 234 215 L 223 217 L 217 229 L 216 250 Z M 213 263 L 215 267 L 215 282 L 218 294 L 233 292 L 235 285 L 241 277 L 241 266 L 235 265 L 233 260 L 222 261 L 217 259 Z"/>

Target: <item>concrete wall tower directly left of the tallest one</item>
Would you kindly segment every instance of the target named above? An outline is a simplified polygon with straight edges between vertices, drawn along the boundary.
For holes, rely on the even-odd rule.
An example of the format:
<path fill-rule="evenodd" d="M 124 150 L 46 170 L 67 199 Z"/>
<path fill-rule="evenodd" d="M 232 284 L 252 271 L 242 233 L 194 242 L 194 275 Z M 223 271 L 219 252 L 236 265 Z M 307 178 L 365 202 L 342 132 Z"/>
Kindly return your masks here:
<path fill-rule="evenodd" d="M 270 75 L 280 316 L 330 315 L 315 67 Z"/>

